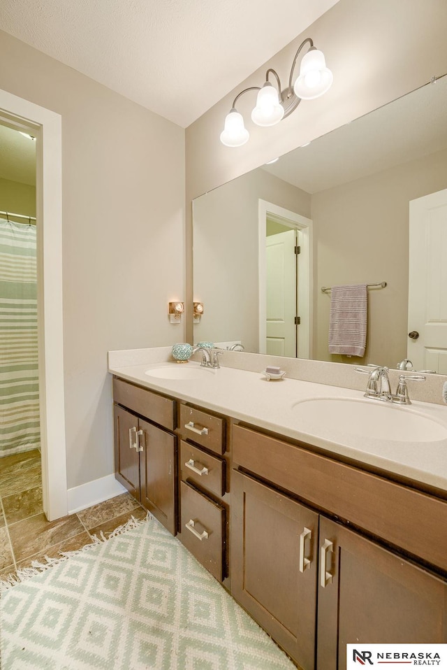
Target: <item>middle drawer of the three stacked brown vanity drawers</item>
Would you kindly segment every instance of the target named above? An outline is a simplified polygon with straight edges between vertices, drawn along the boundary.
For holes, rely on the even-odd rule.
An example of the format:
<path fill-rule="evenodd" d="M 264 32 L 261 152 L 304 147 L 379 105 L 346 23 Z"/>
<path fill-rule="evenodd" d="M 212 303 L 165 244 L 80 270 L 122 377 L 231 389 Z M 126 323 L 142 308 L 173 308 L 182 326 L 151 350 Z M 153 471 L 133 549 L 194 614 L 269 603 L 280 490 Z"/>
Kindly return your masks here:
<path fill-rule="evenodd" d="M 182 480 L 196 483 L 217 496 L 225 493 L 225 461 L 188 442 L 180 443 Z"/>

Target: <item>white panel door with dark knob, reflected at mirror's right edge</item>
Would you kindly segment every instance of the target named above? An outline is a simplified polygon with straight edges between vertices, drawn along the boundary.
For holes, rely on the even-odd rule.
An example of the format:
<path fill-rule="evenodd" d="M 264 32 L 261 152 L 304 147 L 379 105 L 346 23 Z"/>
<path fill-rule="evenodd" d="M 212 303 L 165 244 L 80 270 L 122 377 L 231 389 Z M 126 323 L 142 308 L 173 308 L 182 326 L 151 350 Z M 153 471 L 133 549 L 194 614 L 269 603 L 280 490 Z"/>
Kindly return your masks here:
<path fill-rule="evenodd" d="M 447 189 L 410 202 L 407 356 L 447 374 Z"/>

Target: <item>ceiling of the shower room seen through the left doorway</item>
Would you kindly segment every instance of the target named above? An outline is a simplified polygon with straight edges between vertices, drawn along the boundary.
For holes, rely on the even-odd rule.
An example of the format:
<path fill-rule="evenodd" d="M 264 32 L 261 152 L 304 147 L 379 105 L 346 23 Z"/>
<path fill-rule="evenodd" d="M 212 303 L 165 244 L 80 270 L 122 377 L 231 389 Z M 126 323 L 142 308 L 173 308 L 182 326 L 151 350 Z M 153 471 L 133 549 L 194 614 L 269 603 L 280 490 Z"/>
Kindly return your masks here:
<path fill-rule="evenodd" d="M 36 142 L 0 125 L 0 178 L 36 184 Z M 1 207 L 0 207 L 1 209 Z"/>

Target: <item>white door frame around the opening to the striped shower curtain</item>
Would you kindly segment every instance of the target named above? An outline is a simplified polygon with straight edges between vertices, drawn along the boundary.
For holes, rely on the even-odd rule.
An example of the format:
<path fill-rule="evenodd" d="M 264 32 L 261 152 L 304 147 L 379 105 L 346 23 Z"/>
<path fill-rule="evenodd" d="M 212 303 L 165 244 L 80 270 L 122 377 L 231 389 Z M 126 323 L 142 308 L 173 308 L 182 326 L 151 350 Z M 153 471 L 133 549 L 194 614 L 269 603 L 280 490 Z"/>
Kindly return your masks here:
<path fill-rule="evenodd" d="M 62 311 L 61 115 L 0 89 L 0 122 L 36 136 L 37 313 L 43 511 L 68 513 Z"/>

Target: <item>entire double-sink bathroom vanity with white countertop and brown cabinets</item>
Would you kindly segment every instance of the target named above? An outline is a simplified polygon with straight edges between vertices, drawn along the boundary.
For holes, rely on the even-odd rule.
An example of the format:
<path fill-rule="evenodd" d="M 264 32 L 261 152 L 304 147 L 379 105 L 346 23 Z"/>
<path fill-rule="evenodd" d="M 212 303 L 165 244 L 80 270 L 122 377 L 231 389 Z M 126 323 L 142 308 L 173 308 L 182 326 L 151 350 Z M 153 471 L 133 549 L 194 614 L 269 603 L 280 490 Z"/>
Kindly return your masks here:
<path fill-rule="evenodd" d="M 331 442 L 295 405 L 360 392 L 170 365 L 110 364 L 117 478 L 298 667 L 447 642 L 447 439 Z M 447 408 L 415 405 L 442 437 Z"/>

